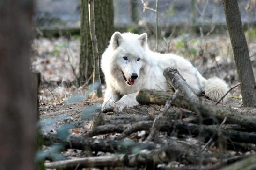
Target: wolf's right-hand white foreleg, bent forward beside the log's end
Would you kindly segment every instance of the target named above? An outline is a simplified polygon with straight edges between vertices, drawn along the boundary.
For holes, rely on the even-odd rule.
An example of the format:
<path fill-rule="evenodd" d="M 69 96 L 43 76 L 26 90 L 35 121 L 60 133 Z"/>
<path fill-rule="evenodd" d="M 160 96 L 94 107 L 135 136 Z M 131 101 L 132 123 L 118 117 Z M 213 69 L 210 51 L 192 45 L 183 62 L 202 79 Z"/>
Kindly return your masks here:
<path fill-rule="evenodd" d="M 118 102 L 116 102 L 114 111 L 121 112 L 124 108 L 132 108 L 134 106 L 139 105 L 139 103 L 136 100 L 137 95 L 138 92 L 129 95 L 124 95 Z"/>

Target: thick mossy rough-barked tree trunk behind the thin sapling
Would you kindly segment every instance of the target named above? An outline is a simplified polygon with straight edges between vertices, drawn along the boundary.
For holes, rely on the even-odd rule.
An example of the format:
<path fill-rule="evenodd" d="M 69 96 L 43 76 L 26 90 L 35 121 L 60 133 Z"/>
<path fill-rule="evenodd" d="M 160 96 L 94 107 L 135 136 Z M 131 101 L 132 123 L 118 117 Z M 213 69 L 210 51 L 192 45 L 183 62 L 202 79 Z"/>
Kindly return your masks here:
<path fill-rule="evenodd" d="M 95 0 L 95 32 L 98 41 L 99 57 L 107 48 L 111 35 L 114 32 L 113 0 Z M 79 84 L 88 81 L 93 73 L 93 51 L 90 38 L 88 0 L 81 0 L 81 28 L 80 28 L 80 80 Z M 100 70 L 102 82 L 104 75 Z"/>

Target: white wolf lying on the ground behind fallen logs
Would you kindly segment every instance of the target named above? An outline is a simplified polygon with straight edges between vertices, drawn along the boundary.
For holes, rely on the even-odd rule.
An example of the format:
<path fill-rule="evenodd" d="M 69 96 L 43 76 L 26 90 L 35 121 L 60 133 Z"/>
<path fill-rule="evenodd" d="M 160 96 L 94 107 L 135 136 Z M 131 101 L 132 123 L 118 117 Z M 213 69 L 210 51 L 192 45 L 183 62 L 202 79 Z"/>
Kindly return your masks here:
<path fill-rule="evenodd" d="M 136 101 L 140 89 L 167 90 L 163 70 L 175 67 L 199 95 L 205 92 L 211 100 L 219 100 L 228 90 L 227 83 L 214 77 L 206 80 L 189 61 L 175 54 L 152 52 L 147 46 L 147 34 L 115 32 L 110 45 L 102 54 L 101 68 L 107 84 L 102 110 L 139 105 Z M 227 97 L 222 103 L 227 102 Z"/>

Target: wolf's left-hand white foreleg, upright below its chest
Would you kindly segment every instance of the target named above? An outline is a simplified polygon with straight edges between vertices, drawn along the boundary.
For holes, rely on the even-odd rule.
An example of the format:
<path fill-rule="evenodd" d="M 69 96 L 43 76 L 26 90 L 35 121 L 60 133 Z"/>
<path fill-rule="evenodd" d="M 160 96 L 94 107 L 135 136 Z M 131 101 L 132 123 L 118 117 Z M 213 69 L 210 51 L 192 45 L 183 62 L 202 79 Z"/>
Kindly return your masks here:
<path fill-rule="evenodd" d="M 108 112 L 115 108 L 115 105 L 120 99 L 120 95 L 112 88 L 107 88 L 105 92 L 104 102 L 102 104 L 102 111 Z"/>

